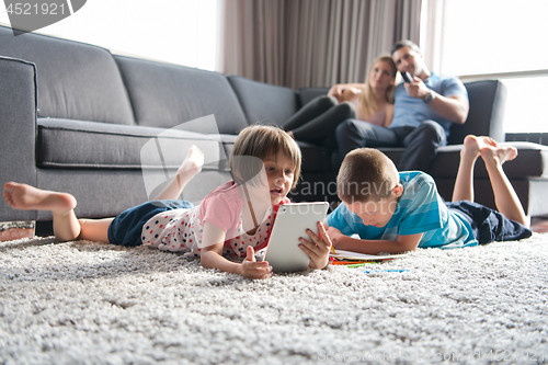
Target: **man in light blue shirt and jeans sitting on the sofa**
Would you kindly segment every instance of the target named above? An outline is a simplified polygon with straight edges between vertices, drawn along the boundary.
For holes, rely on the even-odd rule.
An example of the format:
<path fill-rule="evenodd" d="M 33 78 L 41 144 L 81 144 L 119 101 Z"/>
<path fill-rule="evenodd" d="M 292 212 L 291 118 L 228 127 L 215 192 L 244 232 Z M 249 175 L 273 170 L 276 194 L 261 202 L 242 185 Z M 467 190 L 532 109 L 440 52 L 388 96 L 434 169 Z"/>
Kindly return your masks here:
<path fill-rule="evenodd" d="M 429 171 L 436 150 L 447 144 L 453 123 L 464 124 L 468 116 L 468 93 L 455 77 L 431 72 L 421 49 L 411 41 L 392 46 L 392 59 L 411 82 L 399 84 L 393 94 L 395 111 L 390 126 L 346 119 L 336 128 L 341 159 L 359 147 L 406 147 L 398 169 Z"/>

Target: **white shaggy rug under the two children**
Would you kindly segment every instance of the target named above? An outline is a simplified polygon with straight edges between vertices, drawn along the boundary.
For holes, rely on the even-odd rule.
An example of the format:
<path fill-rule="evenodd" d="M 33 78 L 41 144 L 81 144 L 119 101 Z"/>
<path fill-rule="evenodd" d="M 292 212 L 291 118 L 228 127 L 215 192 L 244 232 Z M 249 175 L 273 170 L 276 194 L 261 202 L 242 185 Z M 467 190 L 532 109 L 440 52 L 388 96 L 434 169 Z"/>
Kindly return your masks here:
<path fill-rule="evenodd" d="M 265 281 L 153 249 L 0 242 L 0 363 L 547 363 L 547 266 L 540 233 Z"/>

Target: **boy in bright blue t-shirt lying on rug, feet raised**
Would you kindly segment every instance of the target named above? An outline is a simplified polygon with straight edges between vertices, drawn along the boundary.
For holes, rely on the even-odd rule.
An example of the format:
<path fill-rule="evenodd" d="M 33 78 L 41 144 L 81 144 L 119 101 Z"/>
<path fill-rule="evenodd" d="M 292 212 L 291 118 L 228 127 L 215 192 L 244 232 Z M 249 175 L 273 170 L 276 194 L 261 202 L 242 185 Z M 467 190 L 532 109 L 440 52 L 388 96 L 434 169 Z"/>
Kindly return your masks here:
<path fill-rule="evenodd" d="M 499 212 L 473 203 L 473 166 L 481 156 Z M 383 152 L 361 148 L 344 158 L 336 179 L 341 204 L 328 217 L 328 235 L 341 250 L 378 254 L 420 248 L 460 248 L 532 236 L 528 219 L 502 164 L 517 150 L 489 137 L 467 136 L 453 202 L 420 171 L 400 172 Z M 357 233 L 359 239 L 350 236 Z"/>

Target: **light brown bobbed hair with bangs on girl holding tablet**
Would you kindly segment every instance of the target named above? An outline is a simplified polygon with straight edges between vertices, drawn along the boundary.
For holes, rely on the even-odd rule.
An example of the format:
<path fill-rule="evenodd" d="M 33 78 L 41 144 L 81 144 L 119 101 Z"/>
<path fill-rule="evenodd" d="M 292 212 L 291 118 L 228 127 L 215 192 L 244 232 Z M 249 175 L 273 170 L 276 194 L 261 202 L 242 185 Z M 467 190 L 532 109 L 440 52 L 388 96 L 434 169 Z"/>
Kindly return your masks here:
<path fill-rule="evenodd" d="M 294 189 L 300 179 L 300 148 L 286 132 L 270 125 L 252 125 L 238 134 L 230 156 L 230 174 L 236 183 L 249 182 L 263 168 L 266 158 L 283 151 L 295 166 Z M 255 157 L 256 159 L 237 158 Z"/>

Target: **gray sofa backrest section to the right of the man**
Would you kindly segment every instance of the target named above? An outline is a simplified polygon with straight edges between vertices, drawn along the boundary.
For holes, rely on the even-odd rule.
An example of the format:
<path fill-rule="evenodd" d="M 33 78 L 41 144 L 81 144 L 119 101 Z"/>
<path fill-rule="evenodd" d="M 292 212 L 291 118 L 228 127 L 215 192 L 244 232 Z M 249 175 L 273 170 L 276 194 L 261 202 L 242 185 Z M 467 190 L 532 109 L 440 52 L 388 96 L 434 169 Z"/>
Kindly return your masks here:
<path fill-rule="evenodd" d="M 460 145 L 467 135 L 490 136 L 504 141 L 504 111 L 506 87 L 499 80 L 483 80 L 465 83 L 470 111 L 465 124 L 450 127 L 448 145 Z"/>

